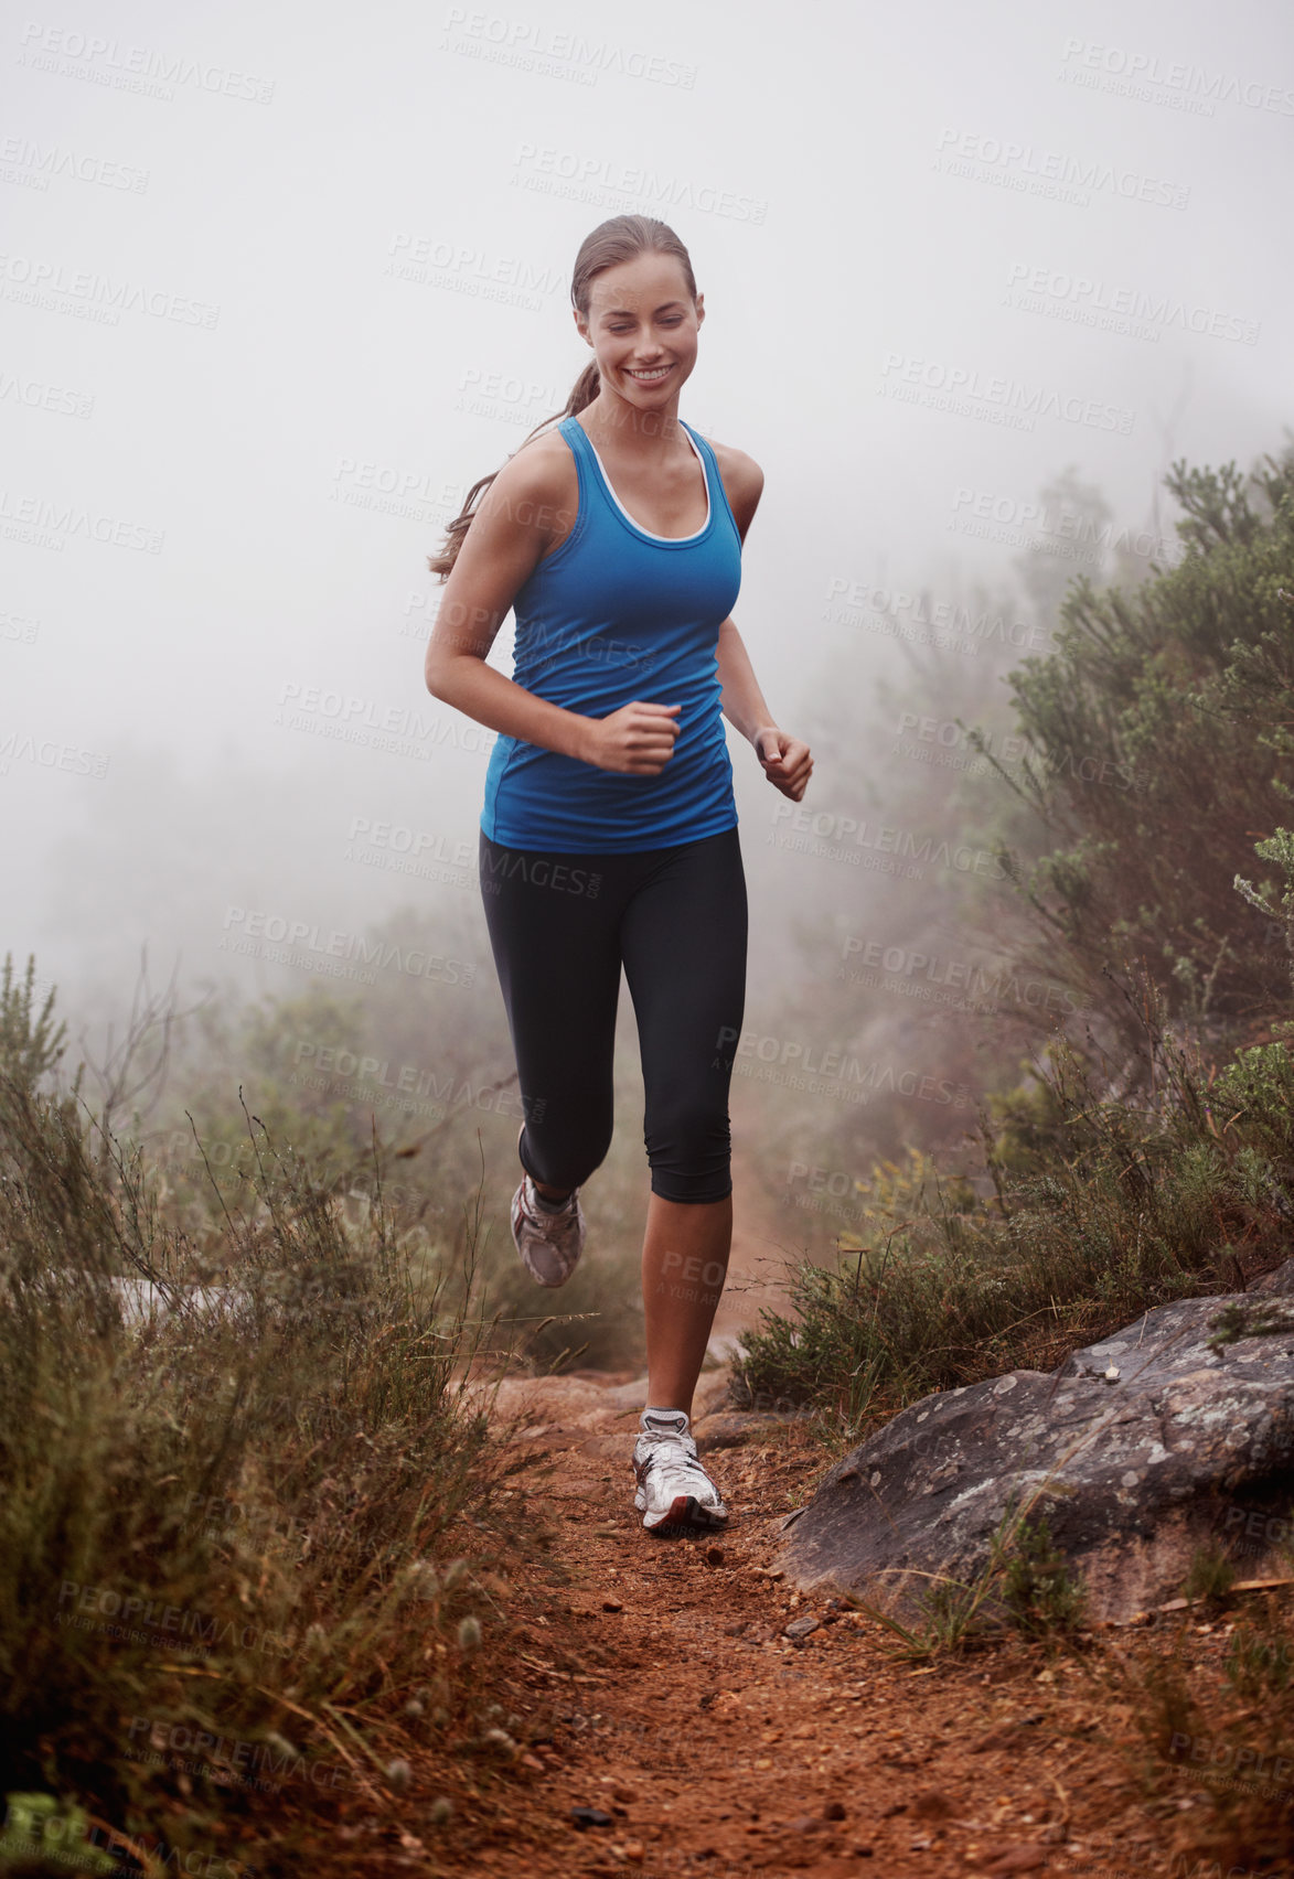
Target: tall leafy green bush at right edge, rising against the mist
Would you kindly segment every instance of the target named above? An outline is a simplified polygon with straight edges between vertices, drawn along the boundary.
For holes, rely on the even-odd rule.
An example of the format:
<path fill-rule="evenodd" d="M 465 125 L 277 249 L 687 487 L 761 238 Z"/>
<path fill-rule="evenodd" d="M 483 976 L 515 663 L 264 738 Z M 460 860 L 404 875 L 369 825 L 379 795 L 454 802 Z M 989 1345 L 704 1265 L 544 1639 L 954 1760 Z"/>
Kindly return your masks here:
<path fill-rule="evenodd" d="M 1053 834 L 1012 872 L 1051 970 L 1100 986 L 1140 958 L 1170 1018 L 1232 1035 L 1288 994 L 1290 971 L 1290 902 L 1275 908 L 1271 881 L 1247 908 L 1234 894 L 1253 853 L 1288 866 L 1281 831 L 1253 842 L 1290 800 L 1294 753 L 1294 449 L 1264 462 L 1249 477 L 1174 464 L 1181 564 L 1134 592 L 1080 577 L 1057 650 L 1008 675 L 1031 752 L 1010 782 Z M 1136 1060 L 1138 1013 L 1108 975 L 1102 1017 Z"/>

